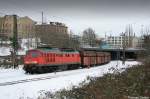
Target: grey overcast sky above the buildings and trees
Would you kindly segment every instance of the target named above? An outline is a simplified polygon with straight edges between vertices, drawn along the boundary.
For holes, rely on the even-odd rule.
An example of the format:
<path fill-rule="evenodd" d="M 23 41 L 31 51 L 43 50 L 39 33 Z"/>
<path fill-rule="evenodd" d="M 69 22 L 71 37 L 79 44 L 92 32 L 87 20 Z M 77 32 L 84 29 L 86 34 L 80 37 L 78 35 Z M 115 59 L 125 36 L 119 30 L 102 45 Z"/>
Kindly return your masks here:
<path fill-rule="evenodd" d="M 0 0 L 0 15 L 18 14 L 64 22 L 76 34 L 91 27 L 104 36 L 119 35 L 127 24 L 139 34 L 150 23 L 150 0 Z"/>

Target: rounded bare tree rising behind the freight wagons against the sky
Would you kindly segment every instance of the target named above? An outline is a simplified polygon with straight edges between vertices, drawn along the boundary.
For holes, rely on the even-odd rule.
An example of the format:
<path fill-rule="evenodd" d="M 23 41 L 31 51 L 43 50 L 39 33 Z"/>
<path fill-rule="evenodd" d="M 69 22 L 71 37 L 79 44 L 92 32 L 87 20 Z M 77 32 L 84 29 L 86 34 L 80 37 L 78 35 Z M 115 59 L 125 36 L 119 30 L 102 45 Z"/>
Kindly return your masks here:
<path fill-rule="evenodd" d="M 87 28 L 83 31 L 82 40 L 84 44 L 90 45 L 91 47 L 96 46 L 96 34 L 92 28 Z"/>

